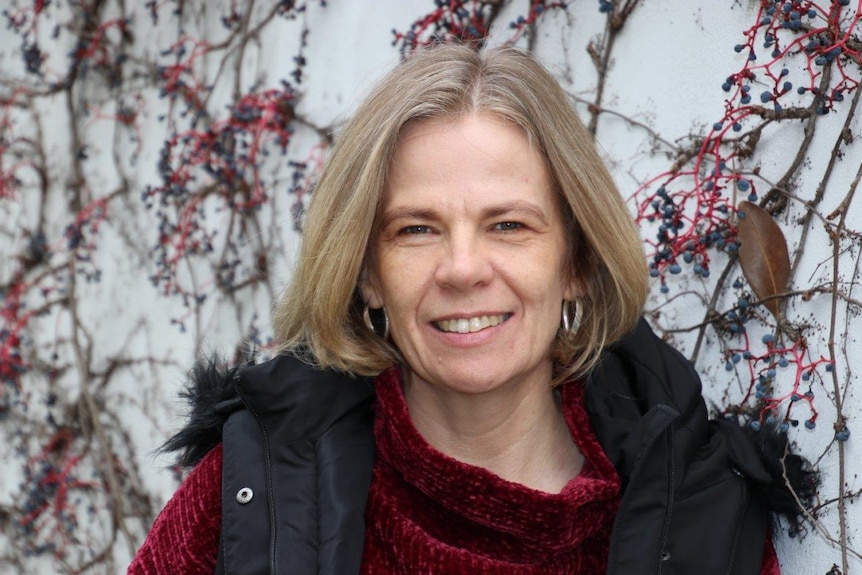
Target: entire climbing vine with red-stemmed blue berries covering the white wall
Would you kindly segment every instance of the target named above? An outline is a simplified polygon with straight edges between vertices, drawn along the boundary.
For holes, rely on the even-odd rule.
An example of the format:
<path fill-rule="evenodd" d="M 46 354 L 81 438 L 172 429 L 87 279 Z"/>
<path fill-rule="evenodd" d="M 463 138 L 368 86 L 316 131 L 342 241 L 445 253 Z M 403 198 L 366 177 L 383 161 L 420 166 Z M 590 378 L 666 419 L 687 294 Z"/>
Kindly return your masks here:
<path fill-rule="evenodd" d="M 836 549 L 830 573 L 849 573 L 862 2 L 733 3 L 744 25 L 710 48 L 733 62 L 710 72 L 723 105 L 684 134 L 618 107 L 630 88 L 619 46 L 648 4 L 428 0 L 406 17 L 381 3 L 374 17 L 391 23 L 396 57 L 562 38 L 567 58 L 592 67 L 594 84 L 572 93 L 590 132 L 602 141 L 606 122 L 622 122 L 649 143 L 649 168 L 621 184 L 654 282 L 648 318 L 704 375 L 716 415 L 775 426 L 829 470 L 803 529 Z M 151 451 L 176 429 L 190 358 L 215 333 L 234 360 L 270 343 L 269 305 L 340 121 L 311 113 L 311 46 L 346 9 L 12 0 L 2 11 L 3 572 L 121 571 L 181 476 L 155 473 Z M 582 20 L 600 24 L 570 33 Z"/>

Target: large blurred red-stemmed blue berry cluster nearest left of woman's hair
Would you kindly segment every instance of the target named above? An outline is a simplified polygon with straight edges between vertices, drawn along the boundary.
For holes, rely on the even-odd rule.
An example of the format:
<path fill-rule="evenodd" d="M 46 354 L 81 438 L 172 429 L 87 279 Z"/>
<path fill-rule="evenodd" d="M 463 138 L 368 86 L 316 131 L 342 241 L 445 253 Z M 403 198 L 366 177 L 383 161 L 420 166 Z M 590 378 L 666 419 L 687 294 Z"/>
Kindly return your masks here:
<path fill-rule="evenodd" d="M 284 82 L 282 89 L 243 96 L 230 107 L 227 118 L 166 142 L 159 163 L 162 184 L 142 194 L 159 218 L 153 282 L 162 285 L 164 293 L 188 293 L 177 283 L 178 266 L 190 256 L 212 254 L 219 232 L 228 236 L 232 232 L 232 240 L 243 241 L 241 222 L 238 229 L 208 226 L 205 203 L 217 205 L 216 212 L 242 217 L 268 201 L 267 190 L 274 186 L 265 181 L 262 162 L 273 149 L 286 153 L 295 101 L 294 90 Z M 240 261 L 219 265 L 220 282 L 231 287 Z"/>

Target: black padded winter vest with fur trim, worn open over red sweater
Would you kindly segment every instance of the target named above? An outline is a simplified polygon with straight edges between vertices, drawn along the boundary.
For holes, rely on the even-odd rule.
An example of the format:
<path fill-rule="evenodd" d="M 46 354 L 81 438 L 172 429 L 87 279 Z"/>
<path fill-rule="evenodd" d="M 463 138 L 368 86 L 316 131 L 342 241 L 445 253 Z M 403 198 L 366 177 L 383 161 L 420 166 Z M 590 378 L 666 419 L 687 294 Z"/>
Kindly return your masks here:
<path fill-rule="evenodd" d="M 194 464 L 223 442 L 216 572 L 357 573 L 372 381 L 290 356 L 227 374 L 200 368 L 195 379 L 190 425 L 167 448 Z M 798 512 L 778 462 L 786 438 L 709 420 L 697 374 L 643 320 L 585 385 L 593 430 L 623 484 L 607 573 L 758 574 L 767 511 Z M 803 464 L 785 458 L 804 501 L 815 479 Z"/>

